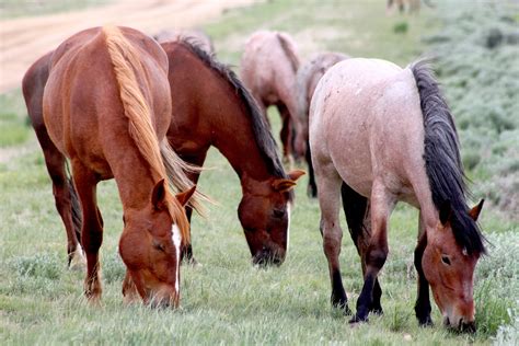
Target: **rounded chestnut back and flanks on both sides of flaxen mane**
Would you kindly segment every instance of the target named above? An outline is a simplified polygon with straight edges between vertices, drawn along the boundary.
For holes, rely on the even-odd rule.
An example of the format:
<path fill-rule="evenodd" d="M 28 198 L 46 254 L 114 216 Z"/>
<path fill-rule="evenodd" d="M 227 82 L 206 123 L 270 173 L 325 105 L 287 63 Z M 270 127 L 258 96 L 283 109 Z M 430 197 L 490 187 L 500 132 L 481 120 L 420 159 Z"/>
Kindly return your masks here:
<path fill-rule="evenodd" d="M 168 58 L 152 38 L 131 28 L 120 31 L 139 56 L 135 78 L 163 137 L 171 112 Z M 104 178 L 113 175 L 108 161 L 115 155 L 114 143 L 119 150 L 135 147 L 101 27 L 80 32 L 56 49 L 43 104 L 45 125 L 58 149 Z"/>

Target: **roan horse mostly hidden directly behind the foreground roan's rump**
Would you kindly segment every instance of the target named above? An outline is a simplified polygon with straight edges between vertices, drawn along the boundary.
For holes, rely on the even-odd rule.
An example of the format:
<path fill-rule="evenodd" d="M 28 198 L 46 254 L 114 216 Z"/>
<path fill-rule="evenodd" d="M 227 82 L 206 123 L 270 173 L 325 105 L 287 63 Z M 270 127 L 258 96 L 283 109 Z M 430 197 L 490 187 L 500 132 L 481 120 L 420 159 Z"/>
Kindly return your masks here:
<path fill-rule="evenodd" d="M 342 53 L 324 51 L 312 57 L 307 64 L 301 66 L 297 74 L 298 88 L 298 116 L 301 124 L 301 130 L 296 134 L 296 148 L 304 155 L 308 164 L 308 195 L 318 196 L 318 186 L 313 174 L 312 157 L 310 153 L 310 145 L 308 139 L 308 111 L 313 92 L 321 77 L 338 61 L 348 59 L 349 57 Z"/>

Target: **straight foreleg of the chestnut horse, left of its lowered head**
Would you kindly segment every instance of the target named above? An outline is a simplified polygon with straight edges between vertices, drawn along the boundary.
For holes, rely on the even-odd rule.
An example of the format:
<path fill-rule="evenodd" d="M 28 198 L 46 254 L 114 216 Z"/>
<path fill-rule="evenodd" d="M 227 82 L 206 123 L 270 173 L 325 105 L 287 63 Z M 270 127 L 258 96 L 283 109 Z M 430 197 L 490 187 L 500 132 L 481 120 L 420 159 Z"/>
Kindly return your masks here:
<path fill-rule="evenodd" d="M 83 224 L 81 243 L 86 254 L 86 277 L 84 295 L 90 302 L 97 303 L 101 299 L 102 287 L 100 278 L 99 250 L 103 242 L 103 219 L 97 209 L 97 180 L 79 160 L 72 161 L 72 172 L 78 196 L 81 200 Z"/>

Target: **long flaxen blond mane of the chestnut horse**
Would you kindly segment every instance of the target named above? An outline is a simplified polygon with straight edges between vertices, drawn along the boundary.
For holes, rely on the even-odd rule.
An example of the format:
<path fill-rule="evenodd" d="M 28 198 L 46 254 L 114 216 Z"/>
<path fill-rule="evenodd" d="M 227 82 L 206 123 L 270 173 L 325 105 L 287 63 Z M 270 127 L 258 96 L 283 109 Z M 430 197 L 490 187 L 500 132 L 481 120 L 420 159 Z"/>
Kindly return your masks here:
<path fill-rule="evenodd" d="M 170 181 L 166 166 L 163 162 L 161 147 L 154 127 L 152 125 L 152 112 L 139 88 L 136 73 L 145 73 L 140 62 L 139 53 L 132 47 L 131 43 L 123 35 L 116 26 L 104 26 L 106 47 L 114 67 L 115 77 L 119 86 L 120 101 L 124 106 L 125 116 L 128 118 L 128 131 L 136 143 L 142 158 L 148 162 L 151 173 L 157 182 L 164 178 Z M 172 162 L 170 166 L 182 164 L 177 155 L 166 157 Z M 176 170 L 176 174 L 184 174 Z M 182 178 L 181 178 L 182 180 Z M 185 177 L 187 180 L 187 177 Z M 184 208 L 176 198 L 173 197 L 169 184 L 166 186 L 166 205 L 172 220 L 178 224 L 184 242 L 189 241 L 189 223 L 185 217 Z"/>

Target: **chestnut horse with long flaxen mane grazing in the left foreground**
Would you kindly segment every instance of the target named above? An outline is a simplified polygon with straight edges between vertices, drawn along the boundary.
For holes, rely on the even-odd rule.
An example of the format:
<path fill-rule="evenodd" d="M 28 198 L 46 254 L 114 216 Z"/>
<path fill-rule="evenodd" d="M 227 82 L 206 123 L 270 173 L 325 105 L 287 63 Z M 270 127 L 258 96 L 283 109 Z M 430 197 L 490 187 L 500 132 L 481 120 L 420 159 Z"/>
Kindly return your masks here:
<path fill-rule="evenodd" d="M 184 174 L 189 166 L 164 140 L 171 122 L 164 51 L 140 32 L 106 26 L 71 36 L 46 57 L 47 65 L 41 59 L 27 71 L 23 91 L 69 235 L 65 157 L 71 162 L 81 203 L 85 296 L 97 302 L 102 292 L 96 185 L 115 177 L 125 223 L 119 253 L 128 275 L 146 303 L 177 305 L 180 247 L 189 241 L 183 205 L 194 187 Z M 175 198 L 166 181 L 189 189 Z"/>

